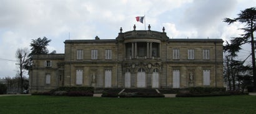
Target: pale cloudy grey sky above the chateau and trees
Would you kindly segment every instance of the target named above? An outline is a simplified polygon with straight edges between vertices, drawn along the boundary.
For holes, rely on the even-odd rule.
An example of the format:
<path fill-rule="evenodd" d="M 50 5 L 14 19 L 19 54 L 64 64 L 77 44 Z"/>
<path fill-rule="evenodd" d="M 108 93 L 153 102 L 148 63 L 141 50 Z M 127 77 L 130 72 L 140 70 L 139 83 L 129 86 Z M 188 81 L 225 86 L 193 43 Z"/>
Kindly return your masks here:
<path fill-rule="evenodd" d="M 16 76 L 16 50 L 30 50 L 32 39 L 47 37 L 49 52 L 64 53 L 68 39 L 114 39 L 120 27 L 126 32 L 134 24 L 136 30 L 144 30 L 137 16 L 145 15 L 151 30 L 165 27 L 169 38 L 230 40 L 240 37 L 243 31 L 238 28 L 244 25 L 228 25 L 223 19 L 235 18 L 255 4 L 256 0 L 1 0 L 0 77 Z M 240 55 L 249 54 L 244 46 Z"/>

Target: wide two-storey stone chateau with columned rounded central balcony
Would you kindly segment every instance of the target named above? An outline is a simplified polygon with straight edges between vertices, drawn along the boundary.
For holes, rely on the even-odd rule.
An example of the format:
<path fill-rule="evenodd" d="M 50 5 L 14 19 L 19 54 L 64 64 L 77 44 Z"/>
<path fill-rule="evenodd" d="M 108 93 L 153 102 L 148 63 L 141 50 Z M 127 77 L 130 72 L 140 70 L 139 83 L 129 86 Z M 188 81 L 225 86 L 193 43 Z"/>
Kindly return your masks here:
<path fill-rule="evenodd" d="M 223 87 L 222 39 L 169 38 L 134 30 L 116 39 L 66 40 L 64 54 L 34 55 L 31 92 L 96 88 Z"/>

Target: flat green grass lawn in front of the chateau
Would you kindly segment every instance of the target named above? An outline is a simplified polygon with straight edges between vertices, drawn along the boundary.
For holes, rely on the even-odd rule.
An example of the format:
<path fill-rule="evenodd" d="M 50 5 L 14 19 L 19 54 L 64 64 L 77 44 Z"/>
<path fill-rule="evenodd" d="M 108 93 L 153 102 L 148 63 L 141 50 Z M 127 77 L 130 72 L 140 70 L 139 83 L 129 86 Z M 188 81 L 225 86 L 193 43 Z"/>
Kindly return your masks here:
<path fill-rule="evenodd" d="M 0 97 L 0 113 L 256 113 L 256 96 L 102 98 Z"/>

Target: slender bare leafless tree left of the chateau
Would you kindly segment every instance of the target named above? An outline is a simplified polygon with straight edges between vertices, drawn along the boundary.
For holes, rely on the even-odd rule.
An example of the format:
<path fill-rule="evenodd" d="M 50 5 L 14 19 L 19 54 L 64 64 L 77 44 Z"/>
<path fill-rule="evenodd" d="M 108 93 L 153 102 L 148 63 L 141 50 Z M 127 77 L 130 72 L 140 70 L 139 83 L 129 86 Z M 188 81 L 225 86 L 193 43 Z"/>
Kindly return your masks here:
<path fill-rule="evenodd" d="M 25 69 L 27 59 L 29 59 L 28 55 L 29 55 L 29 51 L 27 50 L 27 48 L 18 48 L 16 51 L 16 58 L 19 61 L 17 65 L 19 65 L 19 77 L 21 79 L 21 85 L 23 85 L 22 74 L 23 74 L 23 70 Z M 21 92 L 22 92 L 22 88 L 23 87 L 21 86 Z"/>

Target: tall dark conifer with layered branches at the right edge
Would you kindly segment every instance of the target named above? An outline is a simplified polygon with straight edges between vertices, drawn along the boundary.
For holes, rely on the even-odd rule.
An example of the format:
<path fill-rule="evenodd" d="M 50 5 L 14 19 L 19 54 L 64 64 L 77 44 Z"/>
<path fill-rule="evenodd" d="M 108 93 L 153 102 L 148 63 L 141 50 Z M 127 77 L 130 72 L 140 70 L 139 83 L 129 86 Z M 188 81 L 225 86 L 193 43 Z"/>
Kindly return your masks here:
<path fill-rule="evenodd" d="M 254 43 L 254 32 L 256 30 L 256 7 L 251 7 L 249 9 L 245 9 L 238 14 L 237 18 L 229 19 L 225 18 L 224 22 L 228 24 L 232 24 L 234 22 L 240 22 L 245 24 L 245 28 L 240 28 L 244 30 L 244 34 L 241 37 L 232 38 L 231 46 L 233 46 L 234 50 L 238 52 L 242 45 L 245 43 L 250 43 L 251 51 L 252 51 L 252 71 L 254 77 L 254 90 L 256 90 L 256 64 L 255 64 L 255 43 Z"/>

